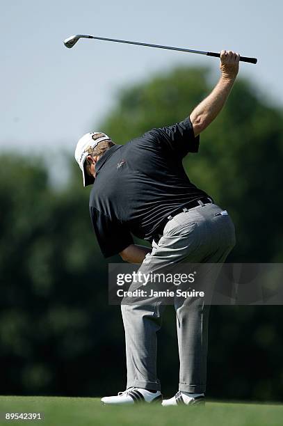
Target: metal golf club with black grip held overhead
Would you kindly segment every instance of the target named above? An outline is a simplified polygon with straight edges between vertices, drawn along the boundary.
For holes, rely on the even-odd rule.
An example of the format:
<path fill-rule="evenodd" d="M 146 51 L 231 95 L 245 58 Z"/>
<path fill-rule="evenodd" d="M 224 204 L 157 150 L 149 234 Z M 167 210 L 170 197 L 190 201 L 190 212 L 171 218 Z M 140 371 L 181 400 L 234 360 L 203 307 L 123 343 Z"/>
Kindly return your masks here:
<path fill-rule="evenodd" d="M 117 40 L 115 38 L 104 38 L 104 37 L 95 37 L 95 36 L 83 36 L 81 34 L 77 35 L 77 36 L 71 36 L 69 38 L 66 38 L 66 40 L 64 40 L 64 45 L 66 47 L 68 47 L 69 49 L 71 49 L 71 47 L 73 47 L 80 38 L 94 38 L 95 40 L 105 40 L 105 41 L 112 41 L 112 42 L 118 42 L 118 43 L 127 43 L 128 45 L 157 47 L 159 49 L 177 50 L 179 52 L 195 53 L 195 54 L 207 55 L 207 56 L 215 56 L 216 58 L 220 58 L 220 53 L 215 53 L 215 52 L 202 52 L 201 50 L 182 49 L 181 47 L 170 47 L 170 46 L 161 46 L 161 45 L 151 45 L 149 43 L 140 43 L 140 42 L 127 41 L 127 40 Z M 248 62 L 248 63 L 257 63 L 257 58 L 248 58 L 246 56 L 240 56 L 240 61 L 242 61 L 242 62 Z"/>

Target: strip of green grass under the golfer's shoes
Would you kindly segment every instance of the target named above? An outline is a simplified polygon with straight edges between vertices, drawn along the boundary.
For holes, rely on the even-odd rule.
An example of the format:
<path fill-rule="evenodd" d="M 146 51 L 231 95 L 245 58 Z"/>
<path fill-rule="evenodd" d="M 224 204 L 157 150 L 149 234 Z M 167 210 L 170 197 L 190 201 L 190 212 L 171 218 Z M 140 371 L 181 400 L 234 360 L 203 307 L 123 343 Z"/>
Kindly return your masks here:
<path fill-rule="evenodd" d="M 45 420 L 3 420 L 3 413 L 44 412 Z M 207 402 L 206 407 L 106 407 L 99 398 L 0 397 L 2 424 L 44 426 L 282 426 L 283 405 Z"/>

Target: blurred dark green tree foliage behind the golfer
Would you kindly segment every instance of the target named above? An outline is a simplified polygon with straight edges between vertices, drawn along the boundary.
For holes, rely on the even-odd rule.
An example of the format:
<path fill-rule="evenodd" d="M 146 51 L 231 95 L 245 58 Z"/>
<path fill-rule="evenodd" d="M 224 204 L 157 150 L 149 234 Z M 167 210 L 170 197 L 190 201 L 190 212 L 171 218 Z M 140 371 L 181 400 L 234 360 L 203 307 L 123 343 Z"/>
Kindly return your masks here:
<path fill-rule="evenodd" d="M 122 88 L 100 129 L 126 143 L 182 120 L 211 89 L 209 70 L 176 68 Z M 191 180 L 229 210 L 237 245 L 231 261 L 281 262 L 282 111 L 238 79 L 200 152 Z M 64 188 L 49 184 L 38 158 L 0 158 L 1 394 L 101 395 L 125 386 L 119 308 L 107 304 L 107 261 L 92 233 L 89 189 L 70 163 Z M 112 258 L 120 262 L 120 258 Z M 280 400 L 283 313 L 279 307 L 213 307 L 208 394 Z M 174 310 L 160 332 L 165 393 L 178 383 Z"/>

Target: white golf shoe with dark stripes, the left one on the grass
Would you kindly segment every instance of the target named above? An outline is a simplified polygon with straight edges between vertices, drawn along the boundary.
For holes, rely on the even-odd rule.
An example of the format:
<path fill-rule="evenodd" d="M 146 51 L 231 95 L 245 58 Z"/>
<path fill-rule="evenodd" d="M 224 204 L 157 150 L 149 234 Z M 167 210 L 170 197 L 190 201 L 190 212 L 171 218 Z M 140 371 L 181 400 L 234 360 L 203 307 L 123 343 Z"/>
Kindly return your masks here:
<path fill-rule="evenodd" d="M 116 405 L 132 405 L 139 402 L 162 402 L 162 395 L 160 390 L 150 392 L 142 388 L 128 388 L 124 392 L 119 392 L 118 395 L 113 397 L 103 397 L 101 400 L 103 405 L 116 404 Z"/>

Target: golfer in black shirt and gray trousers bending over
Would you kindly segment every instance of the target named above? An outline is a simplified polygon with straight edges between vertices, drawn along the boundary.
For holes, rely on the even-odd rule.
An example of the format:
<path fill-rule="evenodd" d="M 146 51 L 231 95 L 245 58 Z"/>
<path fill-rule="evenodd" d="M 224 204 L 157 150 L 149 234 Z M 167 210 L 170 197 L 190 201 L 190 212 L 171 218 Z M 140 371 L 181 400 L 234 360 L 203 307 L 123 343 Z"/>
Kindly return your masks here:
<path fill-rule="evenodd" d="M 188 179 L 182 159 L 197 152 L 200 133 L 223 108 L 238 62 L 238 54 L 221 52 L 218 83 L 180 123 L 149 130 L 125 145 L 101 132 L 79 140 L 75 158 L 83 185 L 93 184 L 90 216 L 106 258 L 120 253 L 124 261 L 141 264 L 140 270 L 147 272 L 168 263 L 225 261 L 235 244 L 232 220 Z M 132 235 L 151 242 L 152 248 L 134 244 Z M 175 304 L 180 361 L 176 395 L 162 402 L 156 377 L 156 331 L 163 306 L 122 304 L 127 389 L 103 397 L 104 404 L 204 404 L 209 306 L 202 298 L 181 300 Z"/>

